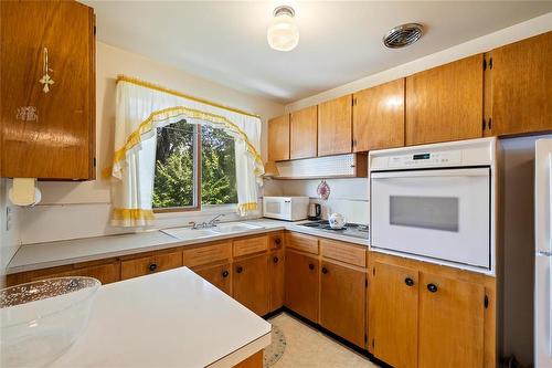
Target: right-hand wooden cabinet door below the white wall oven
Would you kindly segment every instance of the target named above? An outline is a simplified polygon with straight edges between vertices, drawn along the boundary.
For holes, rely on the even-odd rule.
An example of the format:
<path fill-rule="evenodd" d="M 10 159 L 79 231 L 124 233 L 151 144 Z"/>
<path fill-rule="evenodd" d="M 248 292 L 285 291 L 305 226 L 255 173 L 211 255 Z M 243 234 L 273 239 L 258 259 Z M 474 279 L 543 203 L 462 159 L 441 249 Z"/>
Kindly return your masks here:
<path fill-rule="evenodd" d="M 420 367 L 482 367 L 485 287 L 421 274 Z"/>

